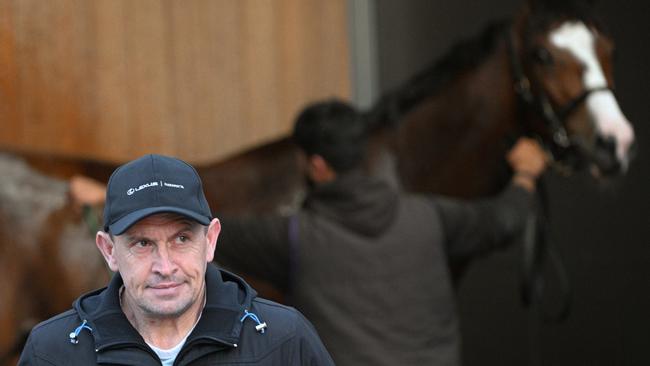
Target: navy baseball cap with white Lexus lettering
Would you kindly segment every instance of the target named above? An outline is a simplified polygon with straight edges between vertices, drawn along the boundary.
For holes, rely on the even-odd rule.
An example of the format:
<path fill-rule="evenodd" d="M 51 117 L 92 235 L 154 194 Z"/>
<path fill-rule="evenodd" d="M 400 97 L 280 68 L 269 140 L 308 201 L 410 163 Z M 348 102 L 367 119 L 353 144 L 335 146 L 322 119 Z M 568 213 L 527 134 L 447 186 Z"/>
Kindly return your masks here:
<path fill-rule="evenodd" d="M 210 224 L 212 213 L 194 167 L 176 158 L 150 154 L 113 172 L 106 189 L 105 232 L 120 235 L 143 218 L 162 212 Z"/>

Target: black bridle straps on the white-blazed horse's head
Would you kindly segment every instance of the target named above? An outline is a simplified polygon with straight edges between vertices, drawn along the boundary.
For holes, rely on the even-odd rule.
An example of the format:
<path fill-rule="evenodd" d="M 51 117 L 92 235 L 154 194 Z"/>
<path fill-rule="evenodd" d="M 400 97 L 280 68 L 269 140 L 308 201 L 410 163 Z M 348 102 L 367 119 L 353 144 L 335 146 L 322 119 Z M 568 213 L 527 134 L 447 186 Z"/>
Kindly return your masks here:
<path fill-rule="evenodd" d="M 533 92 L 530 79 L 523 70 L 521 60 L 517 55 L 514 37 L 514 31 L 511 26 L 506 37 L 506 44 L 513 76 L 513 89 L 517 100 L 521 105 L 542 117 L 542 121 L 544 121 L 551 136 L 550 144 L 540 136 L 537 136 L 537 138 L 553 159 L 553 166 L 563 172 L 572 171 L 573 166 L 562 161 L 562 157 L 567 156 L 576 147 L 574 139 L 566 131 L 566 120 L 592 93 L 598 91 L 613 92 L 613 90 L 608 86 L 586 89 L 565 105 L 559 108 L 553 107 L 550 98 L 544 90 L 536 93 Z"/>

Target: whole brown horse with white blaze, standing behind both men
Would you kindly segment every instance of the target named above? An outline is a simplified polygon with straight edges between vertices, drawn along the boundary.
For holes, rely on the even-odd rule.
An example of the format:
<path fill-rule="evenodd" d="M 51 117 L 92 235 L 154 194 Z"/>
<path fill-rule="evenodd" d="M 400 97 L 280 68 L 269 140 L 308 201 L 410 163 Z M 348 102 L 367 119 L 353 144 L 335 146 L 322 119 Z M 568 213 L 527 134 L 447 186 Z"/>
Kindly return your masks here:
<path fill-rule="evenodd" d="M 511 172 L 503 156 L 518 136 L 530 135 L 546 146 L 558 170 L 588 168 L 598 177 L 625 172 L 634 132 L 612 92 L 613 41 L 587 7 L 552 3 L 529 1 L 512 21 L 457 45 L 364 111 L 372 135 L 368 170 L 408 191 L 482 197 L 507 184 Z M 12 183 L 14 190 L 31 185 L 32 193 L 0 196 L 0 232 L 34 233 L 11 240 L 0 236 L 0 264 L 12 271 L 0 280 L 5 307 L 0 314 L 15 314 L 0 319 L 0 355 L 23 336 L 21 323 L 63 311 L 78 293 L 101 286 L 80 280 L 106 282 L 88 229 L 99 228 L 94 213 L 101 207 L 79 213 L 67 200 L 67 179 L 82 174 L 106 182 L 116 167 L 83 159 L 3 157 L 9 163 L 0 166 L 0 176 L 38 178 Z M 60 166 L 63 173 L 56 172 Z M 197 170 L 217 217 L 290 212 L 305 191 L 298 151 L 288 138 Z M 51 175 L 58 178 L 47 178 Z M 37 181 L 44 183 L 34 186 Z M 40 202 L 50 203 L 39 207 Z M 282 297 L 273 290 L 260 293 Z"/>

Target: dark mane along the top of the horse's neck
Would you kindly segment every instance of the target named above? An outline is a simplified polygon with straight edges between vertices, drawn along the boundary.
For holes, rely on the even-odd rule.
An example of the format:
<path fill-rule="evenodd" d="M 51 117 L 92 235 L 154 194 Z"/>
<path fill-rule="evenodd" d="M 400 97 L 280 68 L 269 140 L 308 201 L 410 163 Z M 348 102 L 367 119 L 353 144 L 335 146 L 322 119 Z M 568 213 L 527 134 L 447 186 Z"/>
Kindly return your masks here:
<path fill-rule="evenodd" d="M 423 99 L 476 68 L 492 53 L 509 25 L 508 21 L 488 24 L 478 36 L 452 45 L 445 56 L 430 62 L 401 86 L 385 93 L 366 114 L 368 130 L 394 125 Z"/>

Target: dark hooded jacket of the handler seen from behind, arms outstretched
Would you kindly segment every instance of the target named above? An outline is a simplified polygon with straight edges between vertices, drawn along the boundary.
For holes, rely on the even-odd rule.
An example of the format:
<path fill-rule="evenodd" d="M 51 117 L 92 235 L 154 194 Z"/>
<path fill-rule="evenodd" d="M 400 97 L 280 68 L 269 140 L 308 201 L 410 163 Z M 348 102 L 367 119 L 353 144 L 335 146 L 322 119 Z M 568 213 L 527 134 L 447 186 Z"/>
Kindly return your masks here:
<path fill-rule="evenodd" d="M 294 216 L 223 218 L 215 260 L 287 290 L 339 366 L 459 365 L 449 262 L 511 242 L 531 198 L 402 195 L 353 173 Z"/>

